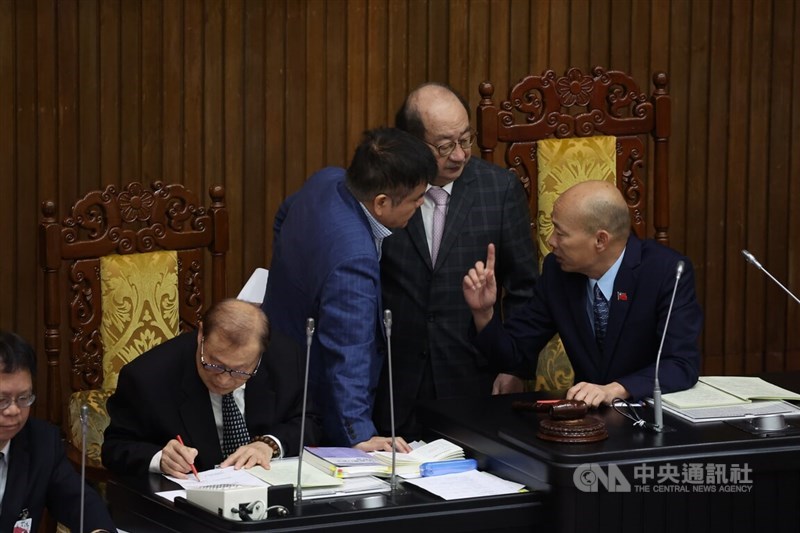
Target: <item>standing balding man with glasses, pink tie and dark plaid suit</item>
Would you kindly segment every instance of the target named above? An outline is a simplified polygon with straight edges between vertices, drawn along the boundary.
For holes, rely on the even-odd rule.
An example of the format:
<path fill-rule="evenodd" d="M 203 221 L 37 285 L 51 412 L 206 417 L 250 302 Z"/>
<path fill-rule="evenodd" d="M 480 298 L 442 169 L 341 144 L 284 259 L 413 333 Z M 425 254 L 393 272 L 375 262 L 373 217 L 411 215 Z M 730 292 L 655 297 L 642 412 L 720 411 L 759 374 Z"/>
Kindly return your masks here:
<path fill-rule="evenodd" d="M 463 98 L 424 84 L 395 122 L 428 145 L 438 168 L 422 207 L 387 239 L 381 259 L 383 304 L 394 322 L 397 431 L 416 438 L 417 401 L 521 390 L 520 380 L 498 376 L 469 341 L 461 280 L 495 243 L 504 294 L 497 309 L 508 312 L 533 294 L 537 265 L 525 192 L 509 171 L 472 157 L 476 135 Z M 390 426 L 385 374 L 375 408 L 382 432 Z"/>

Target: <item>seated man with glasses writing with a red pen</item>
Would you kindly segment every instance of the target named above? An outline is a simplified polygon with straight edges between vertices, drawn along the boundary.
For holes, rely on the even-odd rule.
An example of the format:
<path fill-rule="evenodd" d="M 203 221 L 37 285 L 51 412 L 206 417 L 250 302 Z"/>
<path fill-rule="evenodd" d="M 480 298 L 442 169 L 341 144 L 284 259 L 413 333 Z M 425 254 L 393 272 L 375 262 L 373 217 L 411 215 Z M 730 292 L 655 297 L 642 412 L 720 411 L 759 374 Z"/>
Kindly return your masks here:
<path fill-rule="evenodd" d="M 302 347 L 270 335 L 258 307 L 224 300 L 196 332 L 123 367 L 108 400 L 103 464 L 120 474 L 185 478 L 192 466 L 268 467 L 273 458 L 297 455 L 304 364 Z M 316 416 L 308 414 L 305 443 L 316 444 L 318 434 Z"/>

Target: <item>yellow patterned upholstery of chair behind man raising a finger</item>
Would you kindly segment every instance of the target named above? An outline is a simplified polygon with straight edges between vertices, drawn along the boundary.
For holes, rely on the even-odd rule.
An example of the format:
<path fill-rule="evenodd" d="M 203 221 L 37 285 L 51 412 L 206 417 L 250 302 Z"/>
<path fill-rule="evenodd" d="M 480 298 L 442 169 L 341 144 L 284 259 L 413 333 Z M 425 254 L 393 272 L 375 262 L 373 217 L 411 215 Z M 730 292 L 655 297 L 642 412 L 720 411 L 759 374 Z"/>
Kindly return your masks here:
<path fill-rule="evenodd" d="M 608 136 L 546 139 L 536 143 L 537 245 L 539 268 L 550 253 L 547 240 L 553 233 L 553 204 L 575 185 L 587 180 L 616 183 L 616 139 Z M 566 390 L 575 379 L 572 365 L 556 335 L 539 354 L 535 390 Z"/>

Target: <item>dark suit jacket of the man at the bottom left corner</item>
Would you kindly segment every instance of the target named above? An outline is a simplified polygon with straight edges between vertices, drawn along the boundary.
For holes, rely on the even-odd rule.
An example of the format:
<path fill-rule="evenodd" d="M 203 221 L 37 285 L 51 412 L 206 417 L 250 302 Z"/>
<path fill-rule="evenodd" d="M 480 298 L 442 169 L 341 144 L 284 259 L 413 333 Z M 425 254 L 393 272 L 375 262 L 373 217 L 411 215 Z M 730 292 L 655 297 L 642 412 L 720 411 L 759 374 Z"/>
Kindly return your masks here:
<path fill-rule="evenodd" d="M 84 502 L 86 531 L 116 531 L 105 503 L 89 486 L 85 490 Z M 78 531 L 81 477 L 64 454 L 58 428 L 31 418 L 11 439 L 0 531 L 12 531 L 25 509 L 33 519 L 31 531 L 37 531 L 45 507 L 56 520 L 72 531 Z"/>

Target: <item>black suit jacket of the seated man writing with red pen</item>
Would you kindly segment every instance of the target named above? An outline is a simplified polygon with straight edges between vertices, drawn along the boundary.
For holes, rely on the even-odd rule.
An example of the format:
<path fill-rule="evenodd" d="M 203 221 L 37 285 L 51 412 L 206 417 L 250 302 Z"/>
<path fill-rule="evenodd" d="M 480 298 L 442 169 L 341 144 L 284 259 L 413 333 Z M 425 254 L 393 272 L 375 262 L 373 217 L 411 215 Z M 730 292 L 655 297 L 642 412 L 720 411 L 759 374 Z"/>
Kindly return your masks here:
<path fill-rule="evenodd" d="M 122 368 L 108 399 L 111 423 L 103 439 L 103 465 L 115 473 L 148 471 L 159 450 L 181 435 L 197 448 L 198 470 L 222 462 L 208 389 L 197 374 L 197 333 L 183 333 Z M 274 435 L 287 455 L 300 451 L 305 353 L 273 331 L 258 373 L 245 388 L 245 421 L 251 436 Z M 313 413 L 313 410 L 309 411 Z M 318 441 L 314 414 L 306 419 L 306 444 Z"/>

